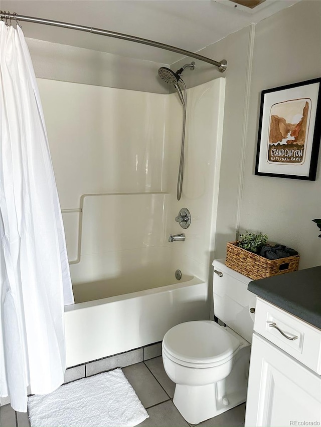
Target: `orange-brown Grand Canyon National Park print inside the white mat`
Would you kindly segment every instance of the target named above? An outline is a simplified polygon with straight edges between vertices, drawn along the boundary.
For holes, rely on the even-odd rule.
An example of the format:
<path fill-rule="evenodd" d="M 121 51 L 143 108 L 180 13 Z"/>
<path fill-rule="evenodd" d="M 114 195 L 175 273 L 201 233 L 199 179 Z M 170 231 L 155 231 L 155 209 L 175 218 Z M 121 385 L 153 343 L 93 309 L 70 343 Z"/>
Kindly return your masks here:
<path fill-rule="evenodd" d="M 267 161 L 302 164 L 311 100 L 289 100 L 272 105 Z"/>

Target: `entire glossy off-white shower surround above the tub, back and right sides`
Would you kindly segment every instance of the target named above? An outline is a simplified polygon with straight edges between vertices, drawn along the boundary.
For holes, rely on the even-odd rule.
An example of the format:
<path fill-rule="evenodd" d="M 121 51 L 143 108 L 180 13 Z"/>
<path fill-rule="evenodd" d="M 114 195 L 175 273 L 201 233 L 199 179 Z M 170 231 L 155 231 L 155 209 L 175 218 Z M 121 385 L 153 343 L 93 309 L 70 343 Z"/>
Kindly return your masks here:
<path fill-rule="evenodd" d="M 225 79 L 188 89 L 180 202 L 176 184 L 183 111 L 177 94 L 44 79 L 38 84 L 61 207 L 83 209 L 63 213 L 74 283 L 118 276 L 148 263 L 154 272 L 158 264 L 171 264 L 174 271 L 179 268 L 208 280 L 216 235 Z M 184 206 L 192 215 L 186 230 L 175 221 Z M 185 242 L 168 242 L 170 233 L 182 231 Z"/>

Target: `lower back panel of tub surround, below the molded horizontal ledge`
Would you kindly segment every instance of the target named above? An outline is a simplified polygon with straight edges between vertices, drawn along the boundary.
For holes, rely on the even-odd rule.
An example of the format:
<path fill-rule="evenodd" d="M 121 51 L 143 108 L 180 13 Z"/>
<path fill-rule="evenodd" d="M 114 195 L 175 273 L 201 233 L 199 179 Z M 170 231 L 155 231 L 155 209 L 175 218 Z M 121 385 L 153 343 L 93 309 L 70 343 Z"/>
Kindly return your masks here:
<path fill-rule="evenodd" d="M 146 269 L 159 275 L 159 267 L 168 265 L 169 259 L 163 247 L 167 198 L 162 192 L 82 196 L 80 227 L 77 235 L 69 235 L 67 240 L 68 250 L 74 247 L 78 260 L 70 266 L 74 289 L 106 279 L 118 279 L 119 284 L 120 278 L 133 272 L 137 277 Z M 82 301 L 76 298 L 76 302 Z"/>

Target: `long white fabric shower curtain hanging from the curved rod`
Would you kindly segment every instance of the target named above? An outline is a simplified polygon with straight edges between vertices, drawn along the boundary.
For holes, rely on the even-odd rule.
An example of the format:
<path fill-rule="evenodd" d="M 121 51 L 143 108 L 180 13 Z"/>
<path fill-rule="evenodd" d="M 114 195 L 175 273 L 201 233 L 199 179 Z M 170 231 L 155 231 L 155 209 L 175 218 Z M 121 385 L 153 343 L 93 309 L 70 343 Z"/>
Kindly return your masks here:
<path fill-rule="evenodd" d="M 27 410 L 66 368 L 74 302 L 35 73 L 22 30 L 0 21 L 0 396 Z"/>

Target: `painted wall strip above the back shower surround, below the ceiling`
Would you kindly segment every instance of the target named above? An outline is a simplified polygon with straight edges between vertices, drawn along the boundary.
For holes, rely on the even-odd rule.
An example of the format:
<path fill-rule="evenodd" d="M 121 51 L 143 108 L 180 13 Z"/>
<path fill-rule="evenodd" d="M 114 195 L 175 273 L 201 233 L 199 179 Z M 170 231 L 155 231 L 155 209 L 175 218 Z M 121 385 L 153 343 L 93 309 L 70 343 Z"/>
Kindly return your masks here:
<path fill-rule="evenodd" d="M 43 40 L 26 38 L 26 42 L 36 77 L 142 92 L 169 93 L 169 86 L 157 75 L 158 68 L 167 64 Z"/>

